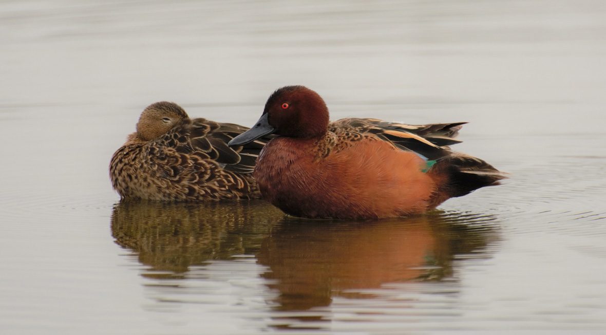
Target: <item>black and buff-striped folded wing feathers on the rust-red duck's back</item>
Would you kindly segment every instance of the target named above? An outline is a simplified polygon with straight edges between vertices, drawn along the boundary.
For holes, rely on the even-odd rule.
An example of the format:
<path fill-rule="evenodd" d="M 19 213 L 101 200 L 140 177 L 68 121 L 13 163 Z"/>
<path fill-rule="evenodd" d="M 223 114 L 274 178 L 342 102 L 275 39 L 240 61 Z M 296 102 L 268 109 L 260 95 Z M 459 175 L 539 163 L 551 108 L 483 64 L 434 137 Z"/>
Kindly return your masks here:
<path fill-rule="evenodd" d="M 396 148 L 412 151 L 427 160 L 437 160 L 451 154 L 445 145 L 456 144 L 455 136 L 464 122 L 455 124 L 406 125 L 378 119 L 341 119 L 332 122 L 333 133 L 358 133 L 376 136 Z M 349 135 L 351 137 L 351 135 Z"/>

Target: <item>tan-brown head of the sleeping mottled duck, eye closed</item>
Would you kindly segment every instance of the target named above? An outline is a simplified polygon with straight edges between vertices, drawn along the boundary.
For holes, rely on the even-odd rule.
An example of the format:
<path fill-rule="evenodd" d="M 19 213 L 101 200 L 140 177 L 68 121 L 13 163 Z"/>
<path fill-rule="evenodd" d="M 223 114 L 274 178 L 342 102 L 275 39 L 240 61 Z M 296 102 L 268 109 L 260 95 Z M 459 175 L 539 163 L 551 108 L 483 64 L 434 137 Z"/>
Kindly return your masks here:
<path fill-rule="evenodd" d="M 188 119 L 187 113 L 174 102 L 161 101 L 145 108 L 137 122 L 137 136 L 151 141 L 167 133 L 182 121 Z"/>

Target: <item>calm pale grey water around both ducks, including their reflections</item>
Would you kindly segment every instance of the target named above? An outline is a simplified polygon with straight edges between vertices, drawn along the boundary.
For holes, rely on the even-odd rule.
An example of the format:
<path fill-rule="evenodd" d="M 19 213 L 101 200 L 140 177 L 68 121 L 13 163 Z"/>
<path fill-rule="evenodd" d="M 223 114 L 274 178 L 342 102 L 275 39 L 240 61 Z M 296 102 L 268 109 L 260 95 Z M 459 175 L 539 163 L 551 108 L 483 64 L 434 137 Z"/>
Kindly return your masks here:
<path fill-rule="evenodd" d="M 606 2 L 1 1 L 0 333 L 606 333 Z M 155 101 L 468 121 L 511 179 L 438 213 L 118 204 Z"/>

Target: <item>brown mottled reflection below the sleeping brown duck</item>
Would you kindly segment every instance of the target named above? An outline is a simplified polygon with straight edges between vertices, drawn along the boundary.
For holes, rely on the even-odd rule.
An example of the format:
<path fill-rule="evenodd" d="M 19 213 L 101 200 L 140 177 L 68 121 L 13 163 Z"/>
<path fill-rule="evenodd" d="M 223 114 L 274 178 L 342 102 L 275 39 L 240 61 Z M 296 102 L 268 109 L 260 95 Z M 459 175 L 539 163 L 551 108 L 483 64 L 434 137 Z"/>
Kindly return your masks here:
<path fill-rule="evenodd" d="M 112 213 L 112 235 L 117 244 L 136 251 L 142 264 L 183 272 L 208 259 L 255 253 L 282 216 L 262 201 L 122 202 Z"/>

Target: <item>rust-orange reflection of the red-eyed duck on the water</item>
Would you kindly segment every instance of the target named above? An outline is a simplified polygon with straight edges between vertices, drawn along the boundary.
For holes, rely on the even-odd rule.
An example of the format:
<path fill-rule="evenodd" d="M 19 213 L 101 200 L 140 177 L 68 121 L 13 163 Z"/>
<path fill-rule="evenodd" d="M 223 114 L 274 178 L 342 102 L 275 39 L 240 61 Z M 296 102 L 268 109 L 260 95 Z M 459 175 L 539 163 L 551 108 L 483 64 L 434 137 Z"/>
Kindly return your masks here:
<path fill-rule="evenodd" d="M 275 280 L 270 287 L 279 291 L 279 309 L 306 310 L 354 294 L 348 290 L 450 276 L 453 254 L 484 246 L 491 231 L 490 225 L 473 229 L 453 221 L 444 215 L 362 223 L 285 221 L 263 241 L 258 259 L 270 267 L 264 277 Z"/>

